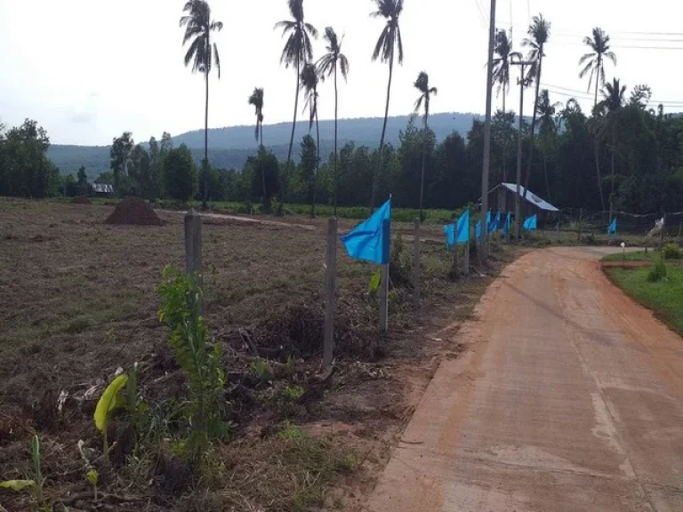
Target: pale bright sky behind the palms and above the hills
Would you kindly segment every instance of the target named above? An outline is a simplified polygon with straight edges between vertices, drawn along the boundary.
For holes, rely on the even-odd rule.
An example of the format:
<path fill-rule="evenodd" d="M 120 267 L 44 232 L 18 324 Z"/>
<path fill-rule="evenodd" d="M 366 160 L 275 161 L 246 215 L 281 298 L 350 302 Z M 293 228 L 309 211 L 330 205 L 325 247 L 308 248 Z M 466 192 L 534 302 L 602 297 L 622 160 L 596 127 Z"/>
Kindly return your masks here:
<path fill-rule="evenodd" d="M 490 0 L 404 0 L 400 19 L 405 48 L 396 66 L 390 116 L 412 112 L 422 70 L 438 88 L 432 112 L 483 113 L 486 107 L 487 26 Z M 285 44 L 278 20 L 289 19 L 286 0 L 209 0 L 223 30 L 215 36 L 221 53 L 221 79 L 210 79 L 209 126 L 253 124 L 247 98 L 265 90 L 264 124 L 291 122 L 295 73 L 279 63 Z M 203 78 L 183 64 L 184 0 L 0 0 L 0 123 L 36 119 L 52 143 L 105 145 L 122 132 L 137 141 L 162 132 L 180 134 L 204 126 Z M 627 93 L 648 84 L 665 111 L 683 111 L 683 90 L 671 64 L 683 57 L 683 3 L 650 0 L 631 9 L 623 0 L 498 0 L 496 27 L 512 28 L 515 47 L 531 16 L 550 20 L 550 41 L 542 68 L 542 87 L 565 103 L 578 94 L 592 106 L 587 79 L 578 78 L 586 51 L 583 36 L 600 27 L 612 36 L 619 77 Z M 372 0 L 305 0 L 306 20 L 321 33 L 332 26 L 344 35 L 342 52 L 350 60 L 348 82 L 340 77 L 340 117 L 383 116 L 388 66 L 371 54 L 383 22 L 368 14 Z M 314 58 L 325 52 L 322 38 Z M 514 72 L 513 86 L 518 72 Z M 320 87 L 319 116 L 334 115 L 333 84 Z M 531 113 L 533 94 L 525 95 Z M 496 107 L 502 96 L 495 97 Z M 518 87 L 509 109 L 518 108 Z M 302 101 L 299 103 L 301 115 Z M 379 138 L 379 134 L 378 134 Z"/>

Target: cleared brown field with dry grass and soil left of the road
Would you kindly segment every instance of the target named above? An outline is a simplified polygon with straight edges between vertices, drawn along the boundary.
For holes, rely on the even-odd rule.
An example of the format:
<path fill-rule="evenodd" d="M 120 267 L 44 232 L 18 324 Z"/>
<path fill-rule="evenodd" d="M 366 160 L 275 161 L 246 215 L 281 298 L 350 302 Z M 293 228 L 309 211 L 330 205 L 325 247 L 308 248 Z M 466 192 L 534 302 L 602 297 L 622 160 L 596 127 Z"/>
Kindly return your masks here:
<path fill-rule="evenodd" d="M 335 371 L 320 383 L 326 220 L 207 217 L 205 316 L 223 348 L 227 420 L 236 425 L 234 441 L 216 447 L 221 469 L 212 474 L 223 476 L 169 495 L 169 482 L 182 472 L 168 468 L 161 448 L 135 464 L 122 453 L 124 466 L 100 468 L 97 508 L 76 444 L 100 448 L 92 412 L 105 383 L 138 362 L 151 405 L 186 395 L 157 320 L 156 292 L 166 265 L 184 265 L 182 217 L 158 212 L 162 225 L 119 226 L 105 222 L 113 211 L 0 200 L 0 476 L 30 476 L 36 432 L 45 495 L 77 509 L 213 509 L 219 502 L 234 510 L 359 509 L 439 362 L 461 352 L 454 332 L 518 254 L 495 246 L 490 268 L 452 282 L 441 228 L 423 227 L 422 313 L 413 310 L 409 289 L 395 289 L 390 332 L 382 337 L 368 292 L 376 268 L 350 260 L 340 245 Z M 344 230 L 354 222 L 340 224 Z M 396 230 L 410 233 L 407 225 Z M 407 236 L 405 251 L 412 257 Z M 272 365 L 272 382 L 254 380 L 257 356 Z M 291 372 L 283 371 L 287 359 Z M 301 399 L 283 401 L 293 387 L 304 390 Z M 302 428 L 307 441 L 283 440 L 289 425 Z M 268 476 L 271 466 L 289 477 Z M 0 503 L 29 508 L 30 496 L 0 490 Z"/>

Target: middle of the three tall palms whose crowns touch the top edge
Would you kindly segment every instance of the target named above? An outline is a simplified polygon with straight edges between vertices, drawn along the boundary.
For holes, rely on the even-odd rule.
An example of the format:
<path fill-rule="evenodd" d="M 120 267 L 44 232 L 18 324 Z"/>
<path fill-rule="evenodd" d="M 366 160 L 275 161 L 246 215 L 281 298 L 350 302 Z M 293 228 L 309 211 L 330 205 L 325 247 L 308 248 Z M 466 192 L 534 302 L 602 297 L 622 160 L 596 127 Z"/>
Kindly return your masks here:
<path fill-rule="evenodd" d="M 287 164 L 292 161 L 292 146 L 294 143 L 294 129 L 296 128 L 296 112 L 299 108 L 299 74 L 301 65 L 313 59 L 313 48 L 310 44 L 311 37 L 317 39 L 317 30 L 310 23 L 303 20 L 303 0 L 288 0 L 289 12 L 293 20 L 278 21 L 275 28 L 282 28 L 282 36 L 289 34 L 285 48 L 282 50 L 280 64 L 285 68 L 296 68 L 296 96 L 294 97 L 294 120 L 292 123 L 292 136 L 289 139 L 289 151 L 287 151 Z"/>

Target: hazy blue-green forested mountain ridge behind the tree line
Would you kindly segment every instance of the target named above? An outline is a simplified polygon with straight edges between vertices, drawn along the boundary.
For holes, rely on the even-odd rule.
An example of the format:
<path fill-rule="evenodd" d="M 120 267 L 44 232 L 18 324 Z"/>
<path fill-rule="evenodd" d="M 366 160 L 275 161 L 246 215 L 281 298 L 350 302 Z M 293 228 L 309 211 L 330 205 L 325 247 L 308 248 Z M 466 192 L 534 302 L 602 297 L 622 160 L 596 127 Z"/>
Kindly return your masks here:
<path fill-rule="evenodd" d="M 430 128 L 437 136 L 437 140 L 445 139 L 452 132 L 459 132 L 463 137 L 467 135 L 472 120 L 478 118 L 475 114 L 432 114 Z M 387 143 L 398 146 L 398 136 L 406 129 L 410 116 L 390 117 L 387 120 Z M 382 134 L 382 117 L 363 117 L 358 119 L 339 120 L 339 148 L 353 140 L 357 146 L 376 148 Z M 419 119 L 415 120 L 420 123 Z M 309 123 L 301 121 L 296 124 L 294 133 L 293 158 L 299 158 L 299 144 L 301 138 L 309 132 Z M 292 133 L 291 123 L 267 124 L 263 126 L 263 141 L 266 147 L 280 160 L 287 157 L 289 137 Z M 315 126 L 311 131 L 315 134 Z M 133 134 L 134 135 L 134 134 Z M 140 141 L 139 141 L 140 142 Z M 204 130 L 182 133 L 173 137 L 173 144 L 187 145 L 192 150 L 197 164 L 204 158 Z M 71 146 L 54 144 L 47 151 L 47 156 L 60 168 L 63 174 L 76 174 L 78 168 L 84 165 L 90 180 L 95 180 L 101 172 L 109 170 L 110 146 Z M 320 155 L 326 160 L 334 149 L 334 121 L 320 121 Z M 256 141 L 253 137 L 253 125 L 229 126 L 212 128 L 209 130 L 209 161 L 214 167 L 241 169 L 246 159 L 256 151 Z"/>

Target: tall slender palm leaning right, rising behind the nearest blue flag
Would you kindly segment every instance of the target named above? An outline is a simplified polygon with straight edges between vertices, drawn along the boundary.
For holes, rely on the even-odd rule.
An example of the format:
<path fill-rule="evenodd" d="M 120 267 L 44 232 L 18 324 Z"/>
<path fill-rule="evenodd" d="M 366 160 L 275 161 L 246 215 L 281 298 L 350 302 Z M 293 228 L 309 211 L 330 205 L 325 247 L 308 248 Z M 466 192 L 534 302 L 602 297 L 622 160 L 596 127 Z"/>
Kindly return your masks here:
<path fill-rule="evenodd" d="M 403 64 L 403 40 L 401 28 L 398 26 L 398 18 L 403 12 L 403 0 L 374 0 L 377 11 L 371 12 L 373 18 L 384 18 L 386 24 L 382 28 L 382 34 L 374 45 L 373 60 L 380 59 L 389 63 L 389 83 L 387 84 L 387 105 L 384 108 L 384 124 L 382 124 L 382 137 L 380 138 L 380 151 L 377 170 L 373 176 L 373 191 L 370 196 L 370 211 L 374 210 L 374 196 L 377 193 L 377 180 L 379 180 L 382 160 L 384 156 L 384 136 L 387 132 L 387 119 L 389 118 L 389 100 L 391 95 L 391 77 L 394 73 L 394 56 L 398 50 L 398 64 Z"/>

